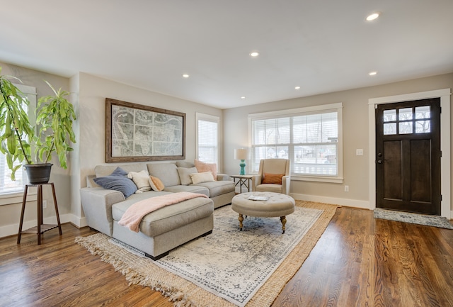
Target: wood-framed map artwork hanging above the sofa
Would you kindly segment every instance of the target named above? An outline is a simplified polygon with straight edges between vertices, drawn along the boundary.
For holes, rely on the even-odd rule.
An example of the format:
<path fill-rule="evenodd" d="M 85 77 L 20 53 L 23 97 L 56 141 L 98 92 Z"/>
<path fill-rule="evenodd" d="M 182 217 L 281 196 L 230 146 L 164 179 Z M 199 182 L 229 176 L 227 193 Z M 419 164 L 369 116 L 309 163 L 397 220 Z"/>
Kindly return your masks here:
<path fill-rule="evenodd" d="M 185 113 L 105 99 L 105 162 L 185 159 Z"/>

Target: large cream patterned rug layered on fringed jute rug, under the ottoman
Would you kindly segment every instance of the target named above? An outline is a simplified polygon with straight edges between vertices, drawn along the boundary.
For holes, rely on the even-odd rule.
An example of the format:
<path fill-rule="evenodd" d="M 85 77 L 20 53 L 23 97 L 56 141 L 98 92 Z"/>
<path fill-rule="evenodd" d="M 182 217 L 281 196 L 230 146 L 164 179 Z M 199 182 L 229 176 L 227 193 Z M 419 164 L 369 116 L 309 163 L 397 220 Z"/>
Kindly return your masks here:
<path fill-rule="evenodd" d="M 154 262 L 101 233 L 76 242 L 113 264 L 130 284 L 161 291 L 175 306 L 270 306 L 316 245 L 336 206 L 297 201 L 281 232 L 279 218 L 253 218 L 239 231 L 231 206 L 214 211 L 211 235 Z"/>

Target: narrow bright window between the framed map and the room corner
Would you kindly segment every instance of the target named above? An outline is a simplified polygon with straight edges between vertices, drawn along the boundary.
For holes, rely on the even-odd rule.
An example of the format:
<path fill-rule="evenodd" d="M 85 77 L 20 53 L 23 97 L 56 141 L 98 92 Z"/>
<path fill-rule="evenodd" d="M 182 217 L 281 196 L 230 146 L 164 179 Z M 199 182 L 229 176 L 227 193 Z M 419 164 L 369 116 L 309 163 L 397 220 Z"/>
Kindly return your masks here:
<path fill-rule="evenodd" d="M 195 114 L 197 121 L 197 159 L 219 165 L 219 116 Z"/>

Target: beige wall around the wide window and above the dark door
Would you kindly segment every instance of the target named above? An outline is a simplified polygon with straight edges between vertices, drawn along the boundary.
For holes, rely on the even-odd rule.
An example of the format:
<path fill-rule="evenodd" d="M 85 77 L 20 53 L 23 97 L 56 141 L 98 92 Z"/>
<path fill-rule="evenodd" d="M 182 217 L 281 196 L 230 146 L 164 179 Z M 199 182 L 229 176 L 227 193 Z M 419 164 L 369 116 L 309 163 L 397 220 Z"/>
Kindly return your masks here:
<path fill-rule="evenodd" d="M 225 171 L 229 174 L 239 172 L 239 161 L 234 160 L 233 152 L 234 148 L 248 146 L 249 113 L 341 102 L 343 184 L 292 181 L 291 193 L 300 199 L 369 208 L 368 99 L 446 88 L 453 88 L 453 74 L 227 109 L 224 111 L 224 130 L 227 131 L 224 135 Z M 364 155 L 355 155 L 356 149 L 363 149 Z M 349 192 L 345 192 L 345 185 L 349 186 Z"/>

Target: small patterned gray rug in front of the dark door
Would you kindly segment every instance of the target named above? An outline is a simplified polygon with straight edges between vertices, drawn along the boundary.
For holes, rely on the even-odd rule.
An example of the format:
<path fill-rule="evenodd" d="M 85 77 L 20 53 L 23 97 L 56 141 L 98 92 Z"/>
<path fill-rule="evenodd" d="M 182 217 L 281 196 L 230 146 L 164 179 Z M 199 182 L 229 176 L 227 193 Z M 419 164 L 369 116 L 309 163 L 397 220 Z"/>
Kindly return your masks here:
<path fill-rule="evenodd" d="M 447 218 L 444 218 L 442 216 L 428 216 L 425 214 L 408 213 L 394 210 L 386 210 L 382 208 L 375 208 L 374 218 L 381 218 L 383 220 L 406 222 L 426 226 L 434 226 L 438 228 L 453 229 L 453 225 L 449 223 Z"/>

